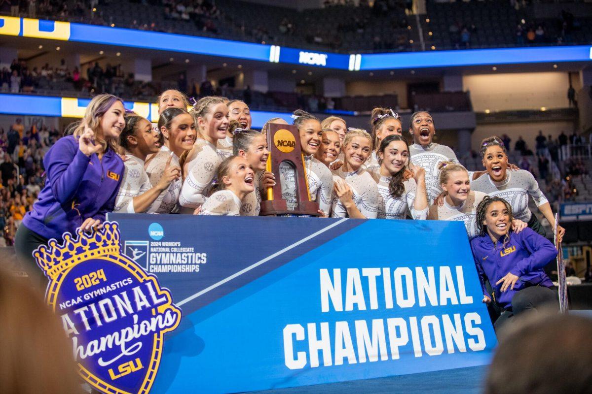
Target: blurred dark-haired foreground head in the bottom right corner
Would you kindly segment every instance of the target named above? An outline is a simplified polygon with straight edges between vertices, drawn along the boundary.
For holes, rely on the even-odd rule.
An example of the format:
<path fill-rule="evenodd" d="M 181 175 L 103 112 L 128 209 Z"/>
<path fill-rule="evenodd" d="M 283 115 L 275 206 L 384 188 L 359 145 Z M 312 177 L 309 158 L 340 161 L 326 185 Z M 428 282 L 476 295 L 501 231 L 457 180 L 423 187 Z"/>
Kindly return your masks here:
<path fill-rule="evenodd" d="M 592 319 L 531 314 L 499 341 L 486 394 L 592 393 Z"/>

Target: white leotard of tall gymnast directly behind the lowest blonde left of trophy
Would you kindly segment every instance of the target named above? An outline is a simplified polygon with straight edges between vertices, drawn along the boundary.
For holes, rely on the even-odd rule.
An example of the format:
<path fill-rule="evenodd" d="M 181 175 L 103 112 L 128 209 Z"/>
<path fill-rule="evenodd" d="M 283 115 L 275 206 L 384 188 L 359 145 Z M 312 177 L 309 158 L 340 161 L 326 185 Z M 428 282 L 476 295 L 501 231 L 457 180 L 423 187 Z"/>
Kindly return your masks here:
<path fill-rule="evenodd" d="M 179 196 L 181 213 L 192 213 L 205 203 L 221 162 L 214 144 L 201 138 L 195 141 L 185 162 L 185 181 Z"/>

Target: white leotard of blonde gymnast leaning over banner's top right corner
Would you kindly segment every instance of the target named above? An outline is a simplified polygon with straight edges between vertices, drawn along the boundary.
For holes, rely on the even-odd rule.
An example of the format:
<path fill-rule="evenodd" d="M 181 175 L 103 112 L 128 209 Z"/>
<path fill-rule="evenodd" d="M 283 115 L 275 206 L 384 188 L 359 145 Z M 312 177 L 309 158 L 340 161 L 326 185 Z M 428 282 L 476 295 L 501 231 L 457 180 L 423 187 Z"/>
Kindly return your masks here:
<path fill-rule="evenodd" d="M 481 193 L 481 191 L 471 190 L 464 203 L 458 207 L 453 207 L 444 200 L 444 205 L 441 207 L 436 205 L 430 206 L 427 219 L 462 220 L 465 223 L 466 234 L 469 236 L 469 239 L 472 239 L 479 235 L 479 230 L 477 229 L 477 206 L 485 196 L 487 194 Z"/>

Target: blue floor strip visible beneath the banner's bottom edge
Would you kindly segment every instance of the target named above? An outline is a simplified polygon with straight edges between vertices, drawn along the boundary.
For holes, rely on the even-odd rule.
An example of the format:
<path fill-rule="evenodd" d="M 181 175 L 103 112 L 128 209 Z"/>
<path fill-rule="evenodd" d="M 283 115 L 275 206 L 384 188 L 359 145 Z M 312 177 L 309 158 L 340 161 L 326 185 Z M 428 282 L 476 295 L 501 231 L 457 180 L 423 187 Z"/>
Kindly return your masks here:
<path fill-rule="evenodd" d="M 352 380 L 351 382 L 254 391 L 250 394 L 480 394 L 486 366 L 449 369 L 412 375 Z"/>

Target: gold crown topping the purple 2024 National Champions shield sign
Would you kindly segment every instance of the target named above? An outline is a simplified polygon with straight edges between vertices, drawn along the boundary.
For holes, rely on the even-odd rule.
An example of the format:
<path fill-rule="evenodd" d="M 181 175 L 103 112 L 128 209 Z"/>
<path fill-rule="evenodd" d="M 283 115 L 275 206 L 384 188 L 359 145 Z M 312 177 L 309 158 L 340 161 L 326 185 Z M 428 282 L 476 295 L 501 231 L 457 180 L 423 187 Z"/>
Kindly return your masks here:
<path fill-rule="evenodd" d="M 120 253 L 120 233 L 115 222 L 105 222 L 101 230 L 91 234 L 77 229 L 76 237 L 65 233 L 63 239 L 63 245 L 57 245 L 57 241 L 52 239 L 48 246 L 41 245 L 33 252 L 37 264 L 52 280 L 79 262 Z"/>

